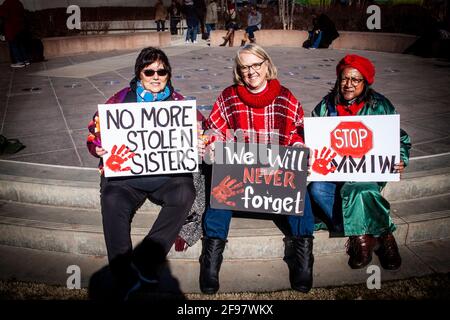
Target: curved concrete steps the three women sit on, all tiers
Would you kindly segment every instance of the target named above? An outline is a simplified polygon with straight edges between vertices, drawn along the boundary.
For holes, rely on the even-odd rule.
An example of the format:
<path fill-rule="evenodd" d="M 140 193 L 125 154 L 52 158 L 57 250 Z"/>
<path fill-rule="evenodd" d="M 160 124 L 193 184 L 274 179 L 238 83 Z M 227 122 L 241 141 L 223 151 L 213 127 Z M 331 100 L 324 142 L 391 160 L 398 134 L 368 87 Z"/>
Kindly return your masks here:
<path fill-rule="evenodd" d="M 448 256 L 450 237 L 450 155 L 412 160 L 402 181 L 390 183 L 391 201 L 403 266 L 382 272 L 383 279 L 448 272 L 432 263 L 430 252 Z M 67 266 L 79 265 L 82 285 L 107 264 L 99 209 L 96 169 L 0 161 L 0 270 L 2 278 L 65 285 Z M 136 214 L 137 244 L 156 218 L 146 203 Z M 289 288 L 283 262 L 283 235 L 271 220 L 233 218 L 221 271 L 221 291 L 273 291 Z M 315 286 L 365 282 L 365 269 L 351 270 L 345 238 L 315 233 Z M 186 252 L 169 253 L 172 275 L 183 292 L 198 292 L 200 241 Z M 428 260 L 427 260 L 428 259 Z M 430 262 L 431 261 L 431 262 Z M 378 259 L 374 258 L 378 264 Z M 442 264 L 440 264 L 442 265 Z"/>

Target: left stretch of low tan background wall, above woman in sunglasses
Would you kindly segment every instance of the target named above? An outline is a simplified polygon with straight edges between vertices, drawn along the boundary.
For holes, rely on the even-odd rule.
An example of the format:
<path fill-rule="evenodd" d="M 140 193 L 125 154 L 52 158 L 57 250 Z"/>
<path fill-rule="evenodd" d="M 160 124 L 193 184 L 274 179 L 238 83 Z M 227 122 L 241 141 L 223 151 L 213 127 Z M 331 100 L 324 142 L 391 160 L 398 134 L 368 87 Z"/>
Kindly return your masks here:
<path fill-rule="evenodd" d="M 142 49 L 148 46 L 167 47 L 170 45 L 170 32 L 136 32 L 114 35 L 84 35 L 72 37 L 44 38 L 44 56 L 81 54 L 111 50 Z"/>

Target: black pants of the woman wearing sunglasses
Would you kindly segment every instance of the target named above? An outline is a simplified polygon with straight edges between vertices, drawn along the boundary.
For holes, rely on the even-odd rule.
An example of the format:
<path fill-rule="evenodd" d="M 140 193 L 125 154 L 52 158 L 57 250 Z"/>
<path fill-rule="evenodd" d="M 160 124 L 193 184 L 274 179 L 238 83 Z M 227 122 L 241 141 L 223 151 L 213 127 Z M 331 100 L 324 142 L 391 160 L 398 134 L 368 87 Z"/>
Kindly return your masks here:
<path fill-rule="evenodd" d="M 113 273 L 116 261 L 122 265 L 131 262 L 131 221 L 146 199 L 162 208 L 143 242 L 158 245 L 165 256 L 175 242 L 195 198 L 192 176 L 188 175 L 125 179 L 102 176 L 100 192 L 103 232 Z"/>

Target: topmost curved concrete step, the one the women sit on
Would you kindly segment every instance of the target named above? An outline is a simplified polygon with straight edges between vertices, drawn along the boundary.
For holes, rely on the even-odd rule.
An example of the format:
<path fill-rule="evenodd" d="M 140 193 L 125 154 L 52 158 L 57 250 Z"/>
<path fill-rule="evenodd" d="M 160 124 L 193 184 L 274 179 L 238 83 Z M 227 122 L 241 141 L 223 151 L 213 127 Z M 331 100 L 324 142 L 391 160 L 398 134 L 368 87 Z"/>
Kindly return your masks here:
<path fill-rule="evenodd" d="M 450 192 L 450 154 L 412 159 L 400 182 L 388 183 L 383 195 L 390 201 L 416 199 Z M 98 209 L 97 169 L 0 160 L 0 200 Z M 147 202 L 143 211 L 158 212 Z"/>

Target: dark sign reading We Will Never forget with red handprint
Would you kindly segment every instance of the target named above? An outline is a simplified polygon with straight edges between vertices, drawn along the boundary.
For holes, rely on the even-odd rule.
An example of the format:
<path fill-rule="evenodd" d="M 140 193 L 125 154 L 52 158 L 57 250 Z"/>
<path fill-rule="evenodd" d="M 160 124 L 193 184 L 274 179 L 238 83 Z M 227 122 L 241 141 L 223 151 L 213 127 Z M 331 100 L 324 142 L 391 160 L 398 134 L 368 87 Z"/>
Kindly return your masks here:
<path fill-rule="evenodd" d="M 211 207 L 303 215 L 308 149 L 215 142 Z"/>

